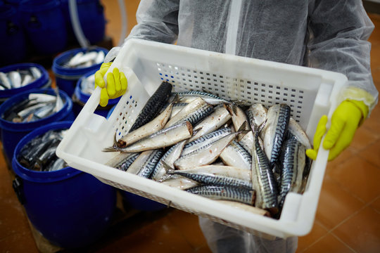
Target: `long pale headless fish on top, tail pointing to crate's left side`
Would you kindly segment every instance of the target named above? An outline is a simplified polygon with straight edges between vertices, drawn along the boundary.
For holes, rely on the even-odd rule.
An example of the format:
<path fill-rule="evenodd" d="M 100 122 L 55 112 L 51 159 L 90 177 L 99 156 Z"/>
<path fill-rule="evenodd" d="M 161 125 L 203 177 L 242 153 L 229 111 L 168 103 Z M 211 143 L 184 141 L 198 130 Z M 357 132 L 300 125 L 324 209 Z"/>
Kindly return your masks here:
<path fill-rule="evenodd" d="M 193 135 L 193 127 L 190 122 L 181 122 L 174 126 L 170 126 L 160 131 L 156 131 L 149 136 L 141 138 L 139 141 L 126 146 L 125 148 L 113 147 L 105 148 L 104 152 L 125 152 L 125 153 L 137 153 L 146 150 L 165 148 L 179 141 L 184 141 Z"/>

